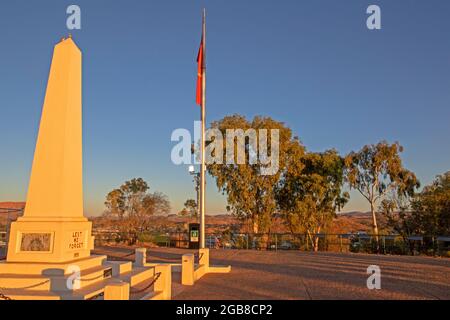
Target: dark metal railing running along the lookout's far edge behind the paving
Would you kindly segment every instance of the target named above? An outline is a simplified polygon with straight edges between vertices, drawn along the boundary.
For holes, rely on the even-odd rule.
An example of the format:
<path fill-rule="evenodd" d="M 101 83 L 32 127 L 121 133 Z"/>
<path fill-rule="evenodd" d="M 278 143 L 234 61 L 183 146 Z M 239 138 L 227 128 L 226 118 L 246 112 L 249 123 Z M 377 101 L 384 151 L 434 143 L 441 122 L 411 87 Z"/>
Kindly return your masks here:
<path fill-rule="evenodd" d="M 160 247 L 188 248 L 188 232 L 173 233 L 96 233 L 96 244 L 126 243 L 128 236 L 141 243 Z M 378 240 L 377 240 L 378 239 Z M 210 249 L 301 250 L 377 253 L 397 255 L 450 256 L 450 236 L 380 234 L 292 234 L 292 233 L 209 233 L 205 238 Z"/>

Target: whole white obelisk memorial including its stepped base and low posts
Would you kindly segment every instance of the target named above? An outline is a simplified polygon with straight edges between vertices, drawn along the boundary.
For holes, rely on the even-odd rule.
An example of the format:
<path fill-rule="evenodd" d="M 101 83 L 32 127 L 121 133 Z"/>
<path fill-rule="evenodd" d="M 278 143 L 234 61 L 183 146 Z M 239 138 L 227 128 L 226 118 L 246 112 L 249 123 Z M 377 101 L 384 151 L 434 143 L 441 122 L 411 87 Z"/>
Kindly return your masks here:
<path fill-rule="evenodd" d="M 83 215 L 81 51 L 71 37 L 53 52 L 23 217 L 11 224 L 0 261 L 0 300 L 170 299 L 171 266 L 107 261 L 91 255 L 92 224 Z M 156 274 L 159 274 L 155 278 Z M 141 296 L 136 296 L 141 294 Z"/>

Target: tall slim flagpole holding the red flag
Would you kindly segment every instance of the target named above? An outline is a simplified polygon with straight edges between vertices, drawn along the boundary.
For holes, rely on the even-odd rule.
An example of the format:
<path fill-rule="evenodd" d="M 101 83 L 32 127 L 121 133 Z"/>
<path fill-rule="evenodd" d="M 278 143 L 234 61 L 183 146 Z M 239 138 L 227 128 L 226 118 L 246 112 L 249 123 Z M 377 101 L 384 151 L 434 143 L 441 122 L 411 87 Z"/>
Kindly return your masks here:
<path fill-rule="evenodd" d="M 205 122 L 206 122 L 206 9 L 203 9 L 202 19 L 203 66 L 202 66 L 202 141 L 200 168 L 200 248 L 205 248 Z"/>

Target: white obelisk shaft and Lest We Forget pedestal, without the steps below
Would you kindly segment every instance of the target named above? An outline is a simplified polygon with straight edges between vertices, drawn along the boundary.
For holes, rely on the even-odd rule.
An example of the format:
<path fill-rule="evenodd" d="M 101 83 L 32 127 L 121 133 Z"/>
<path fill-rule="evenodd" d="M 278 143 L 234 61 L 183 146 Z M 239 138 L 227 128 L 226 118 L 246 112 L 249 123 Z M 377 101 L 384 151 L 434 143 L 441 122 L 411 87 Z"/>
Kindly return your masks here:
<path fill-rule="evenodd" d="M 7 262 L 88 257 L 83 216 L 81 51 L 69 37 L 55 46 L 23 217 L 11 225 Z"/>

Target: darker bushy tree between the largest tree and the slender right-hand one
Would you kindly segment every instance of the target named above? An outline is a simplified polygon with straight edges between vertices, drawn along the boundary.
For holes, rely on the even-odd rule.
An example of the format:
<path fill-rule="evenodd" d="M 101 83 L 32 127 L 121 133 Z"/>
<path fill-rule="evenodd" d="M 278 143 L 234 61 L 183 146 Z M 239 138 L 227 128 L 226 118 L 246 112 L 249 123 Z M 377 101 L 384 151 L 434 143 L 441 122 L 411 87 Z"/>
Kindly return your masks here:
<path fill-rule="evenodd" d="M 335 150 L 304 153 L 291 146 L 288 164 L 277 186 L 277 203 L 292 233 L 307 233 L 315 250 L 314 235 L 327 227 L 349 199 L 342 191 L 344 161 Z"/>

